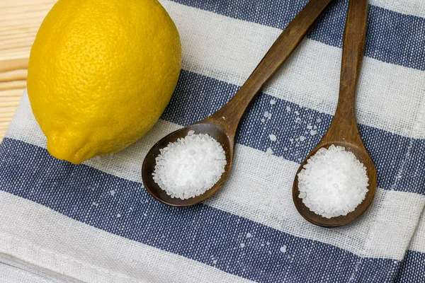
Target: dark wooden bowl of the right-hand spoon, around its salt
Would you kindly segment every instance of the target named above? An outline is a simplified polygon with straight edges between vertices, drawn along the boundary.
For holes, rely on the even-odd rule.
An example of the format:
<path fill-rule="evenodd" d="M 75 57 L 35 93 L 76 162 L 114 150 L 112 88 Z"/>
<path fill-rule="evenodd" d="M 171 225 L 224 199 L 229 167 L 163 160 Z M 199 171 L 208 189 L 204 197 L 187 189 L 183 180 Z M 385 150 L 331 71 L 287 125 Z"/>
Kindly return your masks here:
<path fill-rule="evenodd" d="M 300 191 L 298 190 L 298 173 L 304 168 L 305 164 L 307 163 L 307 160 L 317 153 L 319 149 L 325 148 L 328 149 L 331 145 L 334 146 L 342 146 L 346 149 L 346 151 L 351 151 L 354 156 L 363 163 L 363 165 L 366 168 L 366 174 L 368 175 L 368 192 L 366 192 L 365 199 L 361 204 L 358 204 L 356 209 L 353 210 L 353 212 L 350 212 L 346 215 L 336 216 L 332 218 L 326 218 L 324 216 L 321 216 L 319 214 L 315 214 L 312 212 L 308 207 L 305 206 L 304 202 L 302 202 L 302 199 L 298 197 L 300 195 Z M 363 144 L 362 144 L 363 145 Z M 348 143 L 346 141 L 332 141 L 332 142 L 324 142 L 319 143 L 318 146 L 316 146 L 310 154 L 302 161 L 301 166 L 298 168 L 297 173 L 295 175 L 295 180 L 293 184 L 293 201 L 295 204 L 295 207 L 297 208 L 297 211 L 301 214 L 304 219 L 309 221 L 312 224 L 318 225 L 318 226 L 324 226 L 324 227 L 336 227 L 336 226 L 342 226 L 345 224 L 350 223 L 354 219 L 358 218 L 363 214 L 370 204 L 372 203 L 373 196 L 375 195 L 376 190 L 376 169 L 373 165 L 372 159 L 370 159 L 370 156 L 368 152 L 365 150 L 363 146 L 357 146 L 355 144 Z"/>

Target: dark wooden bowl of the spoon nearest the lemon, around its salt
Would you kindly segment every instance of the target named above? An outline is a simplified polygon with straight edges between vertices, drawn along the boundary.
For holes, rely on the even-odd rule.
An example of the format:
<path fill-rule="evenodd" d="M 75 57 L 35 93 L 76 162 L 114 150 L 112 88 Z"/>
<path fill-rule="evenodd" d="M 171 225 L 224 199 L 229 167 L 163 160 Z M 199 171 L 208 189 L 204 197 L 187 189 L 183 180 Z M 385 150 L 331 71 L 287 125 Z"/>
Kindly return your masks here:
<path fill-rule="evenodd" d="M 164 190 L 157 183 L 155 183 L 152 173 L 154 172 L 155 165 L 157 164 L 156 158 L 160 154 L 159 149 L 164 149 L 169 143 L 177 141 L 177 139 L 184 138 L 189 131 L 194 131 L 195 134 L 209 134 L 215 140 L 217 140 L 225 151 L 226 156 L 226 166 L 225 172 L 222 174 L 220 180 L 215 183 L 209 190 L 206 190 L 202 195 L 196 197 L 191 197 L 190 199 L 181 200 L 176 197 L 171 197 L 166 194 Z M 214 195 L 214 193 L 220 189 L 220 187 L 225 183 L 227 175 L 229 175 L 230 168 L 232 168 L 233 160 L 233 142 L 229 140 L 227 133 L 224 131 L 222 125 L 215 125 L 211 122 L 199 122 L 188 127 L 177 130 L 167 135 L 163 139 L 159 140 L 152 149 L 147 153 L 145 160 L 142 165 L 142 180 L 145 184 L 147 191 L 152 197 L 156 198 L 164 204 L 169 204 L 174 207 L 186 207 L 188 205 L 197 204 L 203 200 L 208 199 L 208 197 Z"/>

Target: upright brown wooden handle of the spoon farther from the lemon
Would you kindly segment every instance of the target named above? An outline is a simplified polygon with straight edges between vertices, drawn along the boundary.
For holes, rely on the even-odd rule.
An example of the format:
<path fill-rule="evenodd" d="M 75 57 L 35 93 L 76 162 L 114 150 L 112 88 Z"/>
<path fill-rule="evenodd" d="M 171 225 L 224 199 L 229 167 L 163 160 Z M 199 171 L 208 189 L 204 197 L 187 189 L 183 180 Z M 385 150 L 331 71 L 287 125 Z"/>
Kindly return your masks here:
<path fill-rule="evenodd" d="M 344 43 L 342 47 L 341 79 L 338 105 L 329 129 L 340 133 L 341 140 L 358 141 L 358 129 L 355 117 L 355 96 L 358 74 L 365 50 L 366 22 L 368 18 L 368 0 L 350 0 Z"/>

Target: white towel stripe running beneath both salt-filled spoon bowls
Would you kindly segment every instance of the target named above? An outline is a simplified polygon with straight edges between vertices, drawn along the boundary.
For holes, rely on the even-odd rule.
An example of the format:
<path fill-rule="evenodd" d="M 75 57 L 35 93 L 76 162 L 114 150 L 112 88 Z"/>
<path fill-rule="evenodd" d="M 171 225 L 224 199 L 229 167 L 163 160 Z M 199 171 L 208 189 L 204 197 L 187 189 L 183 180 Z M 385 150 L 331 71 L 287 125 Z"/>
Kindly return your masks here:
<path fill-rule="evenodd" d="M 33 115 L 28 114 L 28 107 L 28 99 L 24 96 L 18 108 L 20 118 L 13 119 L 8 137 L 45 147 L 45 137 Z M 26 130 L 17 125 L 23 123 Z M 160 120 L 128 149 L 92 158 L 85 164 L 140 182 L 140 168 L 147 151 L 156 141 L 179 128 L 179 125 Z M 293 205 L 291 188 L 297 167 L 292 161 L 237 145 L 229 179 L 205 204 L 295 236 L 344 248 L 356 255 L 402 259 L 424 207 L 424 196 L 378 189 L 373 205 L 360 220 L 338 229 L 322 229 L 302 219 Z"/>

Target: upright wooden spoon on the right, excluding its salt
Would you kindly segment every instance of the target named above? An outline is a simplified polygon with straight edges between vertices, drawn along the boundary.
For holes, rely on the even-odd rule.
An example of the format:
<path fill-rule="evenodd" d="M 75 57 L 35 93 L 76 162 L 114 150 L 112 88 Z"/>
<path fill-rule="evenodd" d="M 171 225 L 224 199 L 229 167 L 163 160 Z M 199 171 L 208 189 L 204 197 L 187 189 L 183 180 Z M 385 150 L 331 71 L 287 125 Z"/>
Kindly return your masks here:
<path fill-rule="evenodd" d="M 370 159 L 368 151 L 366 151 L 361 141 L 360 134 L 358 134 L 356 117 L 354 115 L 354 97 L 356 95 L 356 83 L 363 58 L 367 14 L 367 0 L 350 0 L 344 31 L 344 45 L 342 48 L 339 100 L 336 106 L 334 119 L 322 140 L 319 141 L 319 144 L 317 144 L 305 160 L 302 161 L 300 168 L 298 168 L 297 175 L 295 175 L 293 184 L 293 200 L 295 207 L 297 207 L 298 212 L 300 212 L 307 221 L 319 226 L 334 227 L 350 223 L 368 209 L 375 195 L 376 169 L 372 159 Z M 298 190 L 298 173 L 300 173 L 303 166 L 305 166 L 310 156 L 316 154 L 317 150 L 322 147 L 329 148 L 331 144 L 335 146 L 344 146 L 346 150 L 351 151 L 356 158 L 363 163 L 367 170 L 369 185 L 365 200 L 363 200 L 353 212 L 345 216 L 327 219 L 310 211 L 302 202 L 302 199 L 298 197 L 298 195 L 300 195 Z"/>

